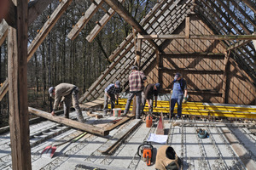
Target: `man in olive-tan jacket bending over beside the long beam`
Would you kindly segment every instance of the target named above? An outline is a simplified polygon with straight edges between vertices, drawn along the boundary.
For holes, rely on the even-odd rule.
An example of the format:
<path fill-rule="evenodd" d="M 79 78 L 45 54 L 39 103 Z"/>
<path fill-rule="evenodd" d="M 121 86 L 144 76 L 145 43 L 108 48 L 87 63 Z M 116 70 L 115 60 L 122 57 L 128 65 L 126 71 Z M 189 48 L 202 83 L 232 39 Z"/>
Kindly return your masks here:
<path fill-rule="evenodd" d="M 55 116 L 55 111 L 57 110 L 57 107 L 58 106 L 60 107 L 61 104 L 63 103 L 64 116 L 66 118 L 69 118 L 69 110 L 72 102 L 73 107 L 77 112 L 77 118 L 79 122 L 84 122 L 84 117 L 82 115 L 82 111 L 79 106 L 79 88 L 78 87 L 69 83 L 61 83 L 55 87 L 49 88 L 49 96 L 55 99 L 53 111 L 51 112 L 52 116 Z"/>

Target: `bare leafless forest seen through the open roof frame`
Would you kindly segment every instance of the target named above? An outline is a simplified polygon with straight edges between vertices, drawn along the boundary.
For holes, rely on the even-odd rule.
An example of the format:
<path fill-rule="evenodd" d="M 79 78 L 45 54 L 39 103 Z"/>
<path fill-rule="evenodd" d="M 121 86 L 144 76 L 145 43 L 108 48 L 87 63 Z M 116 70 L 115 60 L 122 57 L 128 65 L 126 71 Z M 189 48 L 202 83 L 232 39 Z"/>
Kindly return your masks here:
<path fill-rule="evenodd" d="M 139 22 L 148 14 L 156 0 L 129 0 L 123 5 L 129 13 Z M 49 19 L 59 1 L 49 4 L 44 13 L 38 16 L 28 31 L 28 46 L 37 36 L 38 32 Z M 44 42 L 38 47 L 37 52 L 27 64 L 28 105 L 42 111 L 49 111 L 48 88 L 61 82 L 77 85 L 80 95 L 95 82 L 96 78 L 110 64 L 108 56 L 119 46 L 125 37 L 132 31 L 119 14 L 114 14 L 108 24 L 96 36 L 93 42 L 88 42 L 86 37 L 96 26 L 96 21 L 102 19 L 108 10 L 108 5 L 103 3 L 102 8 L 88 22 L 75 40 L 70 40 L 67 34 L 78 22 L 82 14 L 90 7 L 91 1 L 74 0 L 62 14 L 61 19 L 55 24 Z M 0 83 L 8 77 L 8 47 L 7 40 L 0 47 Z M 8 94 L 0 104 L 0 127 L 8 125 L 9 119 Z"/>

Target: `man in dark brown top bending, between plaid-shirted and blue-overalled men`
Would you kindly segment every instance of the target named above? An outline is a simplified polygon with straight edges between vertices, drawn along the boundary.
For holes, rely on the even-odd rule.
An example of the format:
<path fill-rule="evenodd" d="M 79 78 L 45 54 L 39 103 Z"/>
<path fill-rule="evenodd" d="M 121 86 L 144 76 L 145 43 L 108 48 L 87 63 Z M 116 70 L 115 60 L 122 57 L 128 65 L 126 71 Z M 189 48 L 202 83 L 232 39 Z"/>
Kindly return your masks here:
<path fill-rule="evenodd" d="M 149 112 L 153 112 L 153 107 L 157 107 L 157 96 L 158 96 L 159 90 L 160 90 L 160 83 L 148 84 L 146 88 L 144 88 L 142 93 L 142 97 L 143 97 L 142 113 L 146 105 L 146 101 L 148 103 Z"/>

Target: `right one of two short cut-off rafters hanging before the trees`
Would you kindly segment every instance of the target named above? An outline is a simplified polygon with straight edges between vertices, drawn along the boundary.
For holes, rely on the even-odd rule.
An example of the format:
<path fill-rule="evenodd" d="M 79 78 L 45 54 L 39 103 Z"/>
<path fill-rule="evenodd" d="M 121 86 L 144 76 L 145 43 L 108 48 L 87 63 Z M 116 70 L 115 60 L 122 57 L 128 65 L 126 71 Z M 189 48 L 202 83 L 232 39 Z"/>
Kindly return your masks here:
<path fill-rule="evenodd" d="M 123 3 L 124 1 L 125 0 L 119 0 L 120 3 Z M 86 37 L 88 42 L 92 42 L 92 40 L 94 40 L 97 34 L 108 23 L 108 20 L 110 20 L 113 17 L 113 14 L 115 14 L 113 8 L 109 8 L 108 13 L 104 14 L 102 19 L 96 23 L 96 26 L 93 28 L 92 31 L 90 31 L 90 34 Z"/>

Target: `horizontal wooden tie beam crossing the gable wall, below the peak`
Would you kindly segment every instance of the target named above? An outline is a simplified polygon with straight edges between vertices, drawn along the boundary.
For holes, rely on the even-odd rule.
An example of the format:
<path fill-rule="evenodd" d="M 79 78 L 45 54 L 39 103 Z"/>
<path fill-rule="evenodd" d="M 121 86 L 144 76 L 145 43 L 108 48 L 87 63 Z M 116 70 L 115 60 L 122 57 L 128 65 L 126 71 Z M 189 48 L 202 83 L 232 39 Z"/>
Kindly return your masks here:
<path fill-rule="evenodd" d="M 186 35 L 138 35 L 138 39 L 185 39 Z M 202 40 L 256 40 L 256 35 L 190 35 L 189 39 Z"/>

